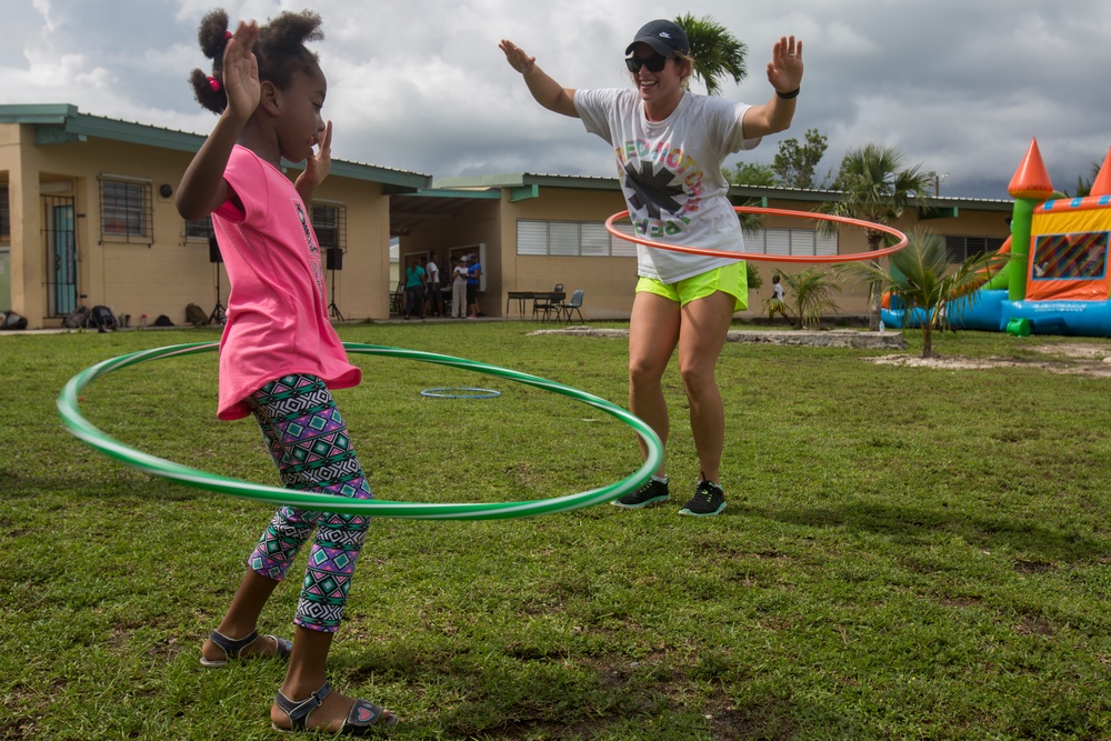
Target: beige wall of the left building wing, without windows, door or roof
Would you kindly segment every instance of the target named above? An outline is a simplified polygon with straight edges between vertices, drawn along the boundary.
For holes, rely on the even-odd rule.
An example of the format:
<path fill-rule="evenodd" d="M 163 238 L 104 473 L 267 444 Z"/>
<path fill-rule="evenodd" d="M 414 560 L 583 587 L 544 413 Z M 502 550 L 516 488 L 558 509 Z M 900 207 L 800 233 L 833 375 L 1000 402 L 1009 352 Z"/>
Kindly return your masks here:
<path fill-rule="evenodd" d="M 172 196 L 159 194 L 163 183 L 177 190 L 189 152 L 96 138 L 49 146 L 33 142 L 32 126 L 0 124 L 0 173 L 7 173 L 9 181 L 12 219 L 12 308 L 28 318 L 29 327 L 58 327 L 62 319 L 49 316 L 47 300 L 50 267 L 42 230 L 48 214 L 40 198 L 40 182 L 46 181 L 71 184 L 52 194 L 74 198 L 79 304 L 109 306 L 117 316 L 130 314 L 132 326 L 141 314 L 150 321 L 166 314 L 182 323 L 188 303 L 206 312 L 216 306 L 219 270 L 220 301 L 227 306 L 227 274 L 222 266 L 209 261 L 208 241 L 186 239 Z M 101 174 L 150 181 L 150 244 L 102 239 Z M 334 274 L 332 297 L 344 319 L 387 317 L 389 199 L 381 194 L 381 186 L 332 176 L 316 196 L 341 203 L 347 211 L 347 253 L 343 270 Z M 327 278 L 331 291 L 330 272 Z"/>

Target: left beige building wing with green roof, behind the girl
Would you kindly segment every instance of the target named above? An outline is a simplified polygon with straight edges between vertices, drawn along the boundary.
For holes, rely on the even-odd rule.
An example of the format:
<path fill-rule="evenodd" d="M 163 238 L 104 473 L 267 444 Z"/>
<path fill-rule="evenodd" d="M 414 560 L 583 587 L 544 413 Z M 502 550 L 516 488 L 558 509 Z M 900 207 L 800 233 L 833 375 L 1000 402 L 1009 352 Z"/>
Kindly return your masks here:
<path fill-rule="evenodd" d="M 186 307 L 227 304 L 208 218 L 187 222 L 173 193 L 204 137 L 81 113 L 73 106 L 0 106 L 0 310 L 59 327 L 103 304 L 138 326 L 186 321 Z M 290 178 L 299 168 L 287 167 Z M 334 160 L 307 204 L 327 249 L 334 318 L 390 309 L 390 196 L 424 174 Z"/>

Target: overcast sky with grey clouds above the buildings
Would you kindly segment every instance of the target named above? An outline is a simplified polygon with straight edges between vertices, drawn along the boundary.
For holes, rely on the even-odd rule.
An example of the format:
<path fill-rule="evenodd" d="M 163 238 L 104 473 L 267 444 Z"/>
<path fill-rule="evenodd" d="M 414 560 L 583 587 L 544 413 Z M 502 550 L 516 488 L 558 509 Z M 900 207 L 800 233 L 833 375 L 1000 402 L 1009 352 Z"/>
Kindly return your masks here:
<path fill-rule="evenodd" d="M 202 0 L 3 0 L 0 103 L 207 133 L 214 117 L 186 78 L 208 71 Z M 260 22 L 304 3 L 223 3 Z M 1053 184 L 1072 192 L 1111 148 L 1107 0 L 317 0 L 326 39 L 324 116 L 333 157 L 433 178 L 615 173 L 581 122 L 550 113 L 506 63 L 508 38 L 564 87 L 629 84 L 622 56 L 653 18 L 711 16 L 748 47 L 748 78 L 723 94 L 764 102 L 772 43 L 804 44 L 794 124 L 727 160 L 771 163 L 781 140 L 829 138 L 819 176 L 864 143 L 941 173 L 942 196 L 1009 198 L 1032 138 Z M 695 90 L 701 89 L 695 84 Z"/>

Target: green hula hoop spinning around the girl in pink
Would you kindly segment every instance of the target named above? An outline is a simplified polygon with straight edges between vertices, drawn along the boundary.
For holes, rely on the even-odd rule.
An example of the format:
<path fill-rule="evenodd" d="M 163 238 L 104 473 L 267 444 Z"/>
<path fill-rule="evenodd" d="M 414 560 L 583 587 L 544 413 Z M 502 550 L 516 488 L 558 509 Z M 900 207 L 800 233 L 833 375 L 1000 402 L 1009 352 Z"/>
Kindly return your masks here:
<path fill-rule="evenodd" d="M 197 342 L 190 344 L 174 344 L 153 350 L 142 350 L 118 358 L 111 358 L 87 368 L 69 380 L 61 393 L 58 395 L 58 412 L 62 422 L 69 431 L 83 440 L 100 452 L 132 465 L 141 471 L 171 481 L 177 481 L 189 487 L 206 489 L 208 491 L 240 497 L 243 499 L 254 499 L 281 504 L 297 507 L 304 510 L 343 512 L 349 514 L 368 514 L 373 517 L 407 518 L 417 520 L 497 520 L 521 517 L 532 517 L 536 514 L 554 514 L 557 512 L 570 512 L 601 504 L 613 499 L 618 499 L 629 492 L 635 491 L 652 477 L 652 472 L 660 465 L 663 459 L 663 447 L 659 437 L 645 422 L 631 412 L 621 409 L 600 397 L 572 389 L 570 387 L 549 381 L 537 375 L 529 375 L 518 371 L 488 366 L 473 360 L 463 360 L 451 356 L 441 356 L 433 352 L 420 352 L 418 350 L 404 350 L 401 348 L 389 348 L 377 344 L 358 344 L 344 342 L 343 347 L 348 352 L 384 356 L 388 358 L 402 358 L 406 360 L 417 360 L 421 362 L 437 363 L 462 368 L 464 370 L 477 371 L 500 378 L 509 379 L 518 383 L 526 383 L 546 391 L 569 397 L 577 401 L 594 407 L 611 417 L 615 417 L 640 435 L 648 450 L 644 464 L 635 472 L 621 479 L 615 483 L 598 489 L 575 494 L 567 494 L 552 499 L 541 499 L 523 502 L 498 502 L 498 503 L 456 503 L 436 504 L 420 502 L 393 502 L 380 499 L 349 499 L 347 497 L 336 497 L 310 491 L 296 491 L 292 489 L 281 489 L 278 487 L 267 487 L 254 484 L 238 479 L 207 473 L 199 469 L 189 468 L 180 463 L 158 458 L 144 453 L 140 450 L 123 444 L 122 442 L 101 432 L 81 415 L 78 408 L 78 398 L 81 391 L 93 380 L 111 373 L 112 371 L 136 366 L 150 360 L 162 358 L 178 358 L 202 352 L 213 352 L 219 349 L 218 342 Z"/>

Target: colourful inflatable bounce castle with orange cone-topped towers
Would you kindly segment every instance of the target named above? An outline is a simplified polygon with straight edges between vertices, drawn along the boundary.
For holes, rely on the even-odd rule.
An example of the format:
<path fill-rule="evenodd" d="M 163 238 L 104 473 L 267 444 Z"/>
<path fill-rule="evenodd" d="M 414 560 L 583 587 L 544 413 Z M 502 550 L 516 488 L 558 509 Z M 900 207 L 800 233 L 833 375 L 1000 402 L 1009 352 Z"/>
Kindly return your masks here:
<path fill-rule="evenodd" d="M 999 253 L 1010 259 L 960 307 L 947 307 L 949 323 L 1020 336 L 1111 337 L 1111 151 L 1090 196 L 1047 200 L 1054 190 L 1034 140 L 1008 192 L 1011 237 Z M 917 312 L 908 317 L 895 303 L 882 312 L 887 326 L 919 324 Z"/>

